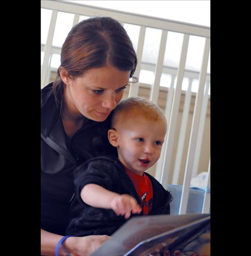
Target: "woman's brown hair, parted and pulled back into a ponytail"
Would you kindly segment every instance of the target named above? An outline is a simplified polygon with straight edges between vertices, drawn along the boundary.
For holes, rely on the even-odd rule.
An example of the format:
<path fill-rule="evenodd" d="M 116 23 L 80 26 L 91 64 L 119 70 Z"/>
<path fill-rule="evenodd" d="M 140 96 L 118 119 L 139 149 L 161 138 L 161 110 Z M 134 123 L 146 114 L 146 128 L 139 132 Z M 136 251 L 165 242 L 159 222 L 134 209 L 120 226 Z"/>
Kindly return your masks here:
<path fill-rule="evenodd" d="M 93 67 L 106 64 L 122 71 L 131 71 L 133 76 L 137 56 L 131 40 L 119 21 L 110 17 L 95 17 L 79 22 L 66 37 L 61 49 L 61 65 L 69 76 L 78 77 Z M 57 78 L 53 82 L 56 102 L 62 106 L 64 82 Z M 60 106 L 60 107 L 61 107 Z"/>

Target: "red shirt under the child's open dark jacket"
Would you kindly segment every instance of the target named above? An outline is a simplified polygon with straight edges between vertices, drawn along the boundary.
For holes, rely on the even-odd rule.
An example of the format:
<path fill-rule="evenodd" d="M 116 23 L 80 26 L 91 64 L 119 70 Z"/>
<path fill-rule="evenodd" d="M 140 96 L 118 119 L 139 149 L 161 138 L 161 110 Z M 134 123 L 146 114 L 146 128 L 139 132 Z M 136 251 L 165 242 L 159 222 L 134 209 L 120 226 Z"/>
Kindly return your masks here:
<path fill-rule="evenodd" d="M 141 176 L 139 174 L 135 174 L 127 167 L 124 168 L 132 183 L 134 183 L 134 187 L 141 198 L 140 207 L 143 210 L 143 214 L 147 215 L 151 212 L 153 207 L 153 187 L 151 180 L 144 173 L 143 176 Z"/>

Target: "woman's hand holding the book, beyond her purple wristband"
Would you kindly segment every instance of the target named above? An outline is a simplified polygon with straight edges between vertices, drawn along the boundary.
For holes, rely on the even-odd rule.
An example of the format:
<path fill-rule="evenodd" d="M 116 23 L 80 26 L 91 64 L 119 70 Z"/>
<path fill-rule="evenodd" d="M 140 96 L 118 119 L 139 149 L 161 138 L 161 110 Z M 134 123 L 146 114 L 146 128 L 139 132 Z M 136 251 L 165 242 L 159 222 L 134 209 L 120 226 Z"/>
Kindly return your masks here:
<path fill-rule="evenodd" d="M 109 238 L 106 235 L 69 237 L 65 240 L 64 246 L 70 251 L 71 256 L 88 256 Z"/>

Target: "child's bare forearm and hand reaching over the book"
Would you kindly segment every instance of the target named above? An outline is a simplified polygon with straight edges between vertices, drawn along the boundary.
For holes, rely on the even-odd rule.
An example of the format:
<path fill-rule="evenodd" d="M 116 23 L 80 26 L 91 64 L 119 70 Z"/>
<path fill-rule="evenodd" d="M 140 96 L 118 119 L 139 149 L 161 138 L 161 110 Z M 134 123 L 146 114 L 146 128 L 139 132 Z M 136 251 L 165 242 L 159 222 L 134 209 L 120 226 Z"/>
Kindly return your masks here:
<path fill-rule="evenodd" d="M 118 194 L 104 189 L 97 184 L 87 184 L 81 190 L 81 198 L 93 207 L 113 209 L 116 215 L 125 215 L 128 219 L 132 213 L 140 213 L 141 208 L 135 198 L 128 194 Z"/>

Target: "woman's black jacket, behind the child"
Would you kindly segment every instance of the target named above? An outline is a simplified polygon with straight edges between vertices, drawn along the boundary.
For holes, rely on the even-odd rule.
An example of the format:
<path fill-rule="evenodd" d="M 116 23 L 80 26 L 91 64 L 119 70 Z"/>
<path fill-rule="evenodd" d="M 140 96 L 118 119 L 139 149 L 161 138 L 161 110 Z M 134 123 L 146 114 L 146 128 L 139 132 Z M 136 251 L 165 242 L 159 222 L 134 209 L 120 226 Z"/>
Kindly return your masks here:
<path fill-rule="evenodd" d="M 74 194 L 73 170 L 95 156 L 114 154 L 107 131 L 111 115 L 104 122 L 86 119 L 68 141 L 52 83 L 41 90 L 41 228 L 64 235 Z"/>

